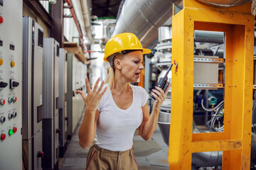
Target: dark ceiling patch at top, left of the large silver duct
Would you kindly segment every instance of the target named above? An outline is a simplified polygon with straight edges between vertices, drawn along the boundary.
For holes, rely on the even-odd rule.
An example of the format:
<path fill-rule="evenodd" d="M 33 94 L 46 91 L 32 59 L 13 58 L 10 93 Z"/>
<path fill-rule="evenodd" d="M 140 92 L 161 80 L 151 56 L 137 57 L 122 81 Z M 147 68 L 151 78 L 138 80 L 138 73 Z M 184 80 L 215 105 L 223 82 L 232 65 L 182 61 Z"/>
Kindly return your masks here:
<path fill-rule="evenodd" d="M 117 17 L 122 0 L 92 0 L 92 15 L 97 17 Z"/>

